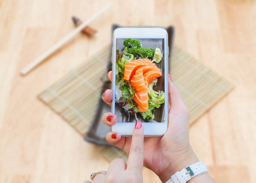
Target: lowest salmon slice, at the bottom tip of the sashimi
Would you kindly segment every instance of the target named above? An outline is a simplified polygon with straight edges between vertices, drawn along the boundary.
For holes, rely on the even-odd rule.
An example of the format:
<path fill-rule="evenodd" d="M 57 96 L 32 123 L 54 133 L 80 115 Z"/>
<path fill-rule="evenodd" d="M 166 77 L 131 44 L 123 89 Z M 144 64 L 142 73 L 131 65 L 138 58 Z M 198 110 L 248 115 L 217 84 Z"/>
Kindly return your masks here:
<path fill-rule="evenodd" d="M 138 112 L 148 111 L 148 88 L 136 91 L 133 99 L 138 106 Z"/>

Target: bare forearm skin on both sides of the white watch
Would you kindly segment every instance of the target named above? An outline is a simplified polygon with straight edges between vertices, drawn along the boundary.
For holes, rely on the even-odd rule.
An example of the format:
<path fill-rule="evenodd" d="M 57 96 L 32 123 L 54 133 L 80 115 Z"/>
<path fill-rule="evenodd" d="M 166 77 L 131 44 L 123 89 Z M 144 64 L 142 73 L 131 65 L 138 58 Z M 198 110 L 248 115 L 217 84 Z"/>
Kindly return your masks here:
<path fill-rule="evenodd" d="M 175 174 L 177 171 L 181 171 L 183 168 L 192 165 L 194 163 L 197 163 L 199 160 L 196 157 L 195 153 L 191 149 L 191 152 L 188 153 L 187 156 L 177 159 L 177 161 L 173 162 L 168 169 L 166 169 L 164 172 L 159 174 L 159 178 L 162 181 L 162 183 L 165 183 L 168 181 L 173 174 Z M 207 173 L 200 174 L 197 176 L 194 176 L 189 183 L 215 183 L 211 176 Z"/>

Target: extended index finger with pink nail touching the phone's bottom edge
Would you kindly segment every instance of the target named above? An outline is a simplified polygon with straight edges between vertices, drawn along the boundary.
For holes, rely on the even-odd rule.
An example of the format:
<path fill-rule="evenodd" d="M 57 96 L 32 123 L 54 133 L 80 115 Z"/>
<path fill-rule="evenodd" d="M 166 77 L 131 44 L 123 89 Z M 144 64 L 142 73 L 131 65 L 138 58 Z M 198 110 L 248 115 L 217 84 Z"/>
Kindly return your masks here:
<path fill-rule="evenodd" d="M 137 121 L 132 133 L 132 142 L 128 157 L 127 169 L 142 171 L 144 159 L 144 128 L 141 121 Z"/>

